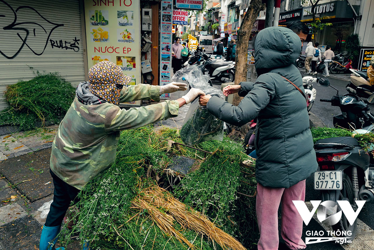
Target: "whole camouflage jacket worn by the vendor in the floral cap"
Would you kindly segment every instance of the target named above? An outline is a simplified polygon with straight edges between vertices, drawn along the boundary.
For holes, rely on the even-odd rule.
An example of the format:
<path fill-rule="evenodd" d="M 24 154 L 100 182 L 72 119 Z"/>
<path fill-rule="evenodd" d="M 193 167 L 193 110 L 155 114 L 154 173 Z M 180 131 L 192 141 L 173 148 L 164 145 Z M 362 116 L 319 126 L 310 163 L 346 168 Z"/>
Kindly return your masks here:
<path fill-rule="evenodd" d="M 159 97 L 160 86 L 148 84 L 123 87 L 120 102 Z M 111 103 L 71 103 L 52 144 L 50 168 L 67 184 L 82 189 L 88 181 L 109 168 L 116 157 L 120 130 L 134 129 L 178 115 L 177 101 L 140 108 L 120 109 Z"/>

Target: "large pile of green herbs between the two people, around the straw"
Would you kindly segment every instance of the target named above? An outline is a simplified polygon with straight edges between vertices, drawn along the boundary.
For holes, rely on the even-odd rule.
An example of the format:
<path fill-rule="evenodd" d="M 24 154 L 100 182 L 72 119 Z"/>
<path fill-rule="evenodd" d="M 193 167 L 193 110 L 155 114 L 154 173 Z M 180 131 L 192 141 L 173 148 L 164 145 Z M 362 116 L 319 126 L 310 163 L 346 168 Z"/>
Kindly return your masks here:
<path fill-rule="evenodd" d="M 164 128 L 156 132 L 146 126 L 122 131 L 113 165 L 80 193 L 76 204 L 77 225 L 71 231 L 62 231 L 62 245 L 79 234 L 82 244 L 88 241 L 92 249 L 187 249 L 175 238 L 163 235 L 146 210 L 136 214 L 131 209 L 134 197 L 155 183 L 146 177 L 148 165 L 159 170 L 166 168 L 171 163 L 172 151 L 193 158 L 204 157 L 202 152 L 184 146 L 179 151 L 174 148 L 168 151 L 169 140 L 182 142 L 178 130 Z M 224 138 L 223 142 L 207 141 L 197 147 L 214 153 L 207 155 L 200 168 L 182 180 L 174 196 L 210 217 L 247 249 L 257 248 L 255 197 L 237 193 L 253 195 L 256 184 L 253 170 L 239 164 L 247 159 L 241 145 Z M 174 227 L 181 228 L 178 223 Z M 183 229 L 181 233 L 198 249 L 221 249 L 194 231 Z"/>

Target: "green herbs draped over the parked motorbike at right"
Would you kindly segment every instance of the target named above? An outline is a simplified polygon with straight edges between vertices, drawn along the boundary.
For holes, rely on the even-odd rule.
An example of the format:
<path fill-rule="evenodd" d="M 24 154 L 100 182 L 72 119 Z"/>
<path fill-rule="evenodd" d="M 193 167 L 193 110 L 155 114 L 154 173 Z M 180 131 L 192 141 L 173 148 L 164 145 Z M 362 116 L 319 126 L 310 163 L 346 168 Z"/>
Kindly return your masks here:
<path fill-rule="evenodd" d="M 355 130 L 335 129 L 329 127 L 312 127 L 310 128 L 313 136 L 313 142 L 316 143 L 319 139 L 326 139 L 340 136 L 354 136 L 358 143 L 363 148 L 372 148 L 374 144 L 374 133 L 359 134 Z"/>

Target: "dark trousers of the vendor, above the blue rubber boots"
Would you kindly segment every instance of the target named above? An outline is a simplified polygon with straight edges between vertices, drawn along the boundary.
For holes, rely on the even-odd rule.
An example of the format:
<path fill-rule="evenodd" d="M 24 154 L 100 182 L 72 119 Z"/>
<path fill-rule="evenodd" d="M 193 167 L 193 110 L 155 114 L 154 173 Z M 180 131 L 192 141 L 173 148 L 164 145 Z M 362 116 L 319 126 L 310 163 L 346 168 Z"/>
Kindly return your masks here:
<path fill-rule="evenodd" d="M 61 225 L 70 202 L 77 202 L 76 197 L 80 190 L 62 181 L 51 170 L 49 172 L 52 175 L 55 190 L 53 191 L 53 202 L 50 204 L 45 225 L 53 227 Z"/>

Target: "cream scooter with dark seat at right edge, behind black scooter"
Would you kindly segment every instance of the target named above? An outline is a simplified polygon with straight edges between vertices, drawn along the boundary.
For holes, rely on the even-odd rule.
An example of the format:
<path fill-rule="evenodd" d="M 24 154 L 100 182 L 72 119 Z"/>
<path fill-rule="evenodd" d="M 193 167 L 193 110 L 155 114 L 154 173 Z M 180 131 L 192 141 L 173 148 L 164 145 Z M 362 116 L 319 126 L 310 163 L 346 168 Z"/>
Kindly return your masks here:
<path fill-rule="evenodd" d="M 360 97 L 367 98 L 374 94 L 374 87 L 368 81 L 368 75 L 364 71 L 356 69 L 349 69 L 352 74 L 350 75 L 350 82 L 346 86 L 349 93 L 356 94 Z"/>

